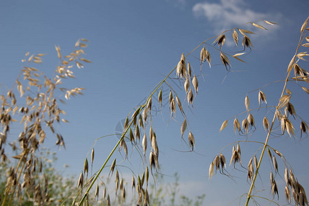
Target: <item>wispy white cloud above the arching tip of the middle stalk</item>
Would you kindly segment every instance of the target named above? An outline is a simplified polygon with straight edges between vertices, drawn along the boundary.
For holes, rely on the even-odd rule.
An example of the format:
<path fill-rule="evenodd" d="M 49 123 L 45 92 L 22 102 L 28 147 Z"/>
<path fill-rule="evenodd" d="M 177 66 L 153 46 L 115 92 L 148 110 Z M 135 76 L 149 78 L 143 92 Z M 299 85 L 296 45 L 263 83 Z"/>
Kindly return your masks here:
<path fill-rule="evenodd" d="M 214 32 L 241 25 L 251 21 L 271 19 L 275 21 L 279 14 L 255 12 L 248 8 L 243 0 L 220 0 L 219 3 L 196 3 L 192 8 L 194 15 L 204 17 L 214 26 Z"/>

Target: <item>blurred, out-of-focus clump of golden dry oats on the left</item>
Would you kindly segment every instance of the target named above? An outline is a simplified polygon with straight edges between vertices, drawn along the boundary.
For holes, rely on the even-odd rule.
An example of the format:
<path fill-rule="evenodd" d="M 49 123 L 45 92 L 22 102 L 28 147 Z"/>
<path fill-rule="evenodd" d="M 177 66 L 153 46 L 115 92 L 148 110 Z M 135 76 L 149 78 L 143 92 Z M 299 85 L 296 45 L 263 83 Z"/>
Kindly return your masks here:
<path fill-rule="evenodd" d="M 8 173 L 1 174 L 6 176 L 1 206 L 12 205 L 25 195 L 34 205 L 53 204 L 50 176 L 45 175 L 45 163 L 37 154 L 47 136 L 56 137 L 56 146 L 65 148 L 64 138 L 54 126 L 67 122 L 62 118 L 65 111 L 60 104 L 81 95 L 83 89 L 61 86 L 67 79 L 74 78 L 74 67 L 82 68 L 82 62 L 90 62 L 82 57 L 86 43 L 86 39 L 78 40 L 73 52 L 67 56 L 62 56 L 60 47 L 56 46 L 59 62 L 51 77 L 38 69 L 45 54 L 27 52 L 18 78 L 11 89 L 1 95 L 1 162 L 10 161 Z"/>

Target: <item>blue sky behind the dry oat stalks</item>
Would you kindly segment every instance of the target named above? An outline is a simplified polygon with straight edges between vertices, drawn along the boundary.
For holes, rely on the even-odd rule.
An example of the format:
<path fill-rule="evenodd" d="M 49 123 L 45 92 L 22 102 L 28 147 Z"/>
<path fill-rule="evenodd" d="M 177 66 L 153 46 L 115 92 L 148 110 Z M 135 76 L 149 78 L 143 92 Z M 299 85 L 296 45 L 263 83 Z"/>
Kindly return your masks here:
<path fill-rule="evenodd" d="M 244 137 L 234 134 L 231 120 L 225 130 L 221 133 L 218 130 L 225 119 L 245 111 L 244 98 L 248 92 L 268 82 L 285 78 L 288 62 L 299 40 L 301 24 L 308 16 L 308 6 L 308 1 L 279 0 L 2 1 L 1 93 L 5 93 L 18 76 L 23 67 L 21 59 L 26 52 L 47 54 L 38 68 L 52 75 L 58 65 L 55 45 L 60 46 L 62 54 L 69 54 L 79 38 L 89 39 L 89 46 L 84 50 L 87 53 L 85 58 L 92 63 L 85 64 L 84 69 L 75 68 L 76 80 L 69 80 L 66 84 L 67 87 L 84 87 L 87 90 L 83 96 L 73 98 L 62 106 L 67 112 L 65 119 L 70 123 L 57 127 L 65 137 L 67 149 L 58 151 L 54 146 L 56 137 L 48 137 L 45 142 L 45 146 L 58 152 L 57 168 L 62 169 L 62 165 L 69 164 L 67 172 L 79 174 L 95 139 L 115 133 L 118 122 L 126 118 L 176 66 L 182 52 L 187 54 L 205 39 L 248 21 L 266 19 L 279 23 L 275 26 L 263 24 L 268 28 L 267 31 L 244 25 L 244 29 L 253 30 L 257 34 L 251 35 L 254 46 L 252 52 L 243 58 L 247 64 L 231 62 L 231 69 L 237 72 L 227 75 L 225 67 L 220 65 L 218 53 L 209 48 L 214 65 L 211 69 L 207 64 L 203 66 L 205 81 L 198 78 L 199 89 L 194 99 L 194 109 L 191 111 L 185 106 L 198 154 L 175 151 L 187 150 L 181 142 L 180 126 L 183 119 L 179 111 L 176 111 L 177 122 L 170 119 L 168 106 L 163 106 L 163 115 L 153 114 L 152 124 L 157 133 L 161 152 L 159 161 L 161 172 L 166 174 L 165 180 L 172 181 L 169 176 L 178 172 L 183 194 L 206 194 L 205 205 L 227 205 L 249 190 L 246 173 L 229 170 L 236 176 L 236 183 L 218 174 L 209 181 L 208 168 L 221 148 L 233 141 L 243 140 Z M 228 50 L 242 50 L 235 48 L 231 34 L 228 35 L 224 47 Z M 210 44 L 212 42 L 209 41 Z M 200 74 L 200 49 L 187 58 L 196 74 Z M 248 50 L 245 52 L 249 53 Z M 307 62 L 301 64 L 304 69 L 308 67 Z M 185 91 L 182 86 L 179 87 L 180 82 L 170 80 L 170 83 L 185 105 Z M 277 104 L 282 86 L 282 82 L 277 82 L 262 89 L 268 106 Z M 293 92 L 291 102 L 297 113 L 306 119 L 309 114 L 308 95 L 295 84 L 291 85 L 290 90 Z M 166 85 L 163 91 L 167 97 L 169 89 Z M 250 93 L 249 99 L 251 108 L 258 107 L 258 91 Z M 253 112 L 257 130 L 248 139 L 264 141 L 266 133 L 262 127 L 262 118 L 267 112 L 265 108 Z M 243 118 L 244 115 L 241 115 L 238 119 Z M 268 119 L 272 119 L 271 112 Z M 295 128 L 299 128 L 299 123 Z M 309 157 L 308 139 L 299 142 L 299 131 L 297 138 L 283 136 L 271 139 L 271 144 L 284 151 L 299 181 L 308 190 L 308 163 L 304 161 Z M 115 137 L 98 141 L 95 146 L 94 170 L 100 168 L 116 142 Z M 246 157 L 251 157 L 259 146 L 246 143 L 241 148 L 243 164 L 247 167 L 249 158 Z M 231 146 L 223 153 L 229 159 Z M 115 157 L 121 158 L 119 154 Z M 136 155 L 131 157 L 130 162 L 132 165 L 124 164 L 132 167 L 135 172 L 141 171 L 141 163 Z M 279 170 L 283 172 L 280 163 Z M 264 194 L 266 197 L 271 197 L 268 193 L 271 167 L 268 160 L 264 161 L 264 165 L 261 176 L 265 179 L 263 185 L 259 182 L 259 186 L 267 190 Z M 122 173 L 129 176 L 130 170 L 124 169 Z M 281 192 L 280 203 L 284 204 L 284 181 L 277 176 L 277 182 Z M 226 198 L 222 198 L 222 194 Z"/>

